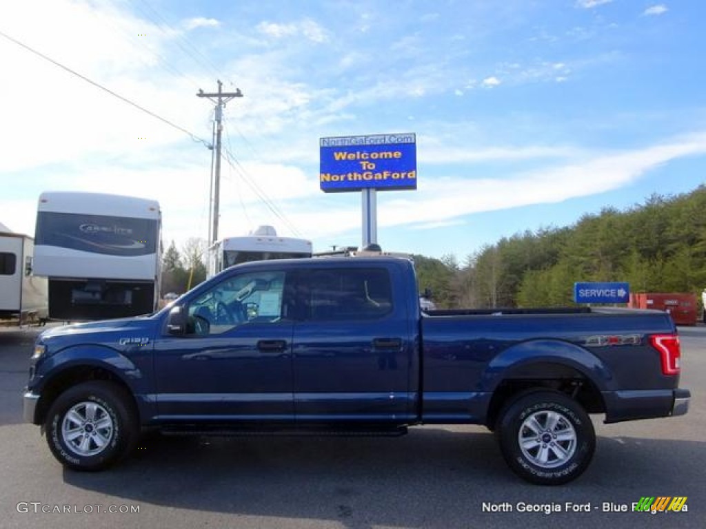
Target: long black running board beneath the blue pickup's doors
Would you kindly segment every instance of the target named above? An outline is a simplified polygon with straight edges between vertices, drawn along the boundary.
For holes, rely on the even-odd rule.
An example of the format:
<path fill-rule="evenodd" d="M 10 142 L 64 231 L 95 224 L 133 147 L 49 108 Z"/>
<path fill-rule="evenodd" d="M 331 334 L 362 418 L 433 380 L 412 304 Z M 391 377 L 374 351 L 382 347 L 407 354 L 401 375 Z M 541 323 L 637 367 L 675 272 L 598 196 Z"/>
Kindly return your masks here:
<path fill-rule="evenodd" d="M 368 428 L 260 428 L 203 425 L 164 426 L 164 435 L 204 435 L 214 437 L 400 437 L 407 434 L 407 427 L 368 427 Z"/>

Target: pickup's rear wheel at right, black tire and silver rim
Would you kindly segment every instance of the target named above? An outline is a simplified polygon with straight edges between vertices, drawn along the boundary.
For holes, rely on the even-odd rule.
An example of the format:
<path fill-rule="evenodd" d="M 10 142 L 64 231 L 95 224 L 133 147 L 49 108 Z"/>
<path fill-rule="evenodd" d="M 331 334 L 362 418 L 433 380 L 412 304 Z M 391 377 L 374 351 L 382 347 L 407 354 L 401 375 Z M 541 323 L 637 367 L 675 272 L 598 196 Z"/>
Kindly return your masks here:
<path fill-rule="evenodd" d="M 596 448 L 591 419 L 558 391 L 518 395 L 501 411 L 496 435 L 508 466 L 537 485 L 575 480 L 588 468 Z"/>

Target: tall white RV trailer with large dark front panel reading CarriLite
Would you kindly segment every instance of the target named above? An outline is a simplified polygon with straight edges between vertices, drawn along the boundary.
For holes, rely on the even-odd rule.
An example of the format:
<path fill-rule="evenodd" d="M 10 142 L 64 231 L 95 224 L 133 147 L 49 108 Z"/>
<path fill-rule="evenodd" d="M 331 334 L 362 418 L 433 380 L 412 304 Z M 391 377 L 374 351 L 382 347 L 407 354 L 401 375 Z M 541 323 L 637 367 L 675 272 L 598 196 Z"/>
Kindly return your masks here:
<path fill-rule="evenodd" d="M 154 311 L 161 229 L 155 200 L 42 193 L 34 267 L 35 274 L 49 278 L 49 318 L 102 320 Z"/>

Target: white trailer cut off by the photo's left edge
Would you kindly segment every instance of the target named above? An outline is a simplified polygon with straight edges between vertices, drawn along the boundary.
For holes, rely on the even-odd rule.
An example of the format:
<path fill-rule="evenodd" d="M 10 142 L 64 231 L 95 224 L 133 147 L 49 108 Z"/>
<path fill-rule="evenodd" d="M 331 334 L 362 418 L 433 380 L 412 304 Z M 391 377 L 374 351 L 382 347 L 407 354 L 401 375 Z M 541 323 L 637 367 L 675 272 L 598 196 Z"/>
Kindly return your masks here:
<path fill-rule="evenodd" d="M 20 325 L 47 320 L 48 283 L 32 274 L 34 248 L 31 237 L 0 232 L 0 319 L 17 319 Z"/>

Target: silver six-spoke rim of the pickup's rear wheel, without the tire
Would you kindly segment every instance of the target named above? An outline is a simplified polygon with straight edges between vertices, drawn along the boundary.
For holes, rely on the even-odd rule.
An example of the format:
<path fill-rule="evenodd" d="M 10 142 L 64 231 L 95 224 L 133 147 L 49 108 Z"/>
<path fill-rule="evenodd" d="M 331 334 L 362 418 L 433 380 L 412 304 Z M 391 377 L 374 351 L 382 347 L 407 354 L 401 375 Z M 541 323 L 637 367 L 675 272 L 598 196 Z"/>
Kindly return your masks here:
<path fill-rule="evenodd" d="M 569 461 L 576 451 L 576 430 L 555 411 L 532 413 L 517 434 L 522 455 L 540 468 L 556 468 Z"/>

